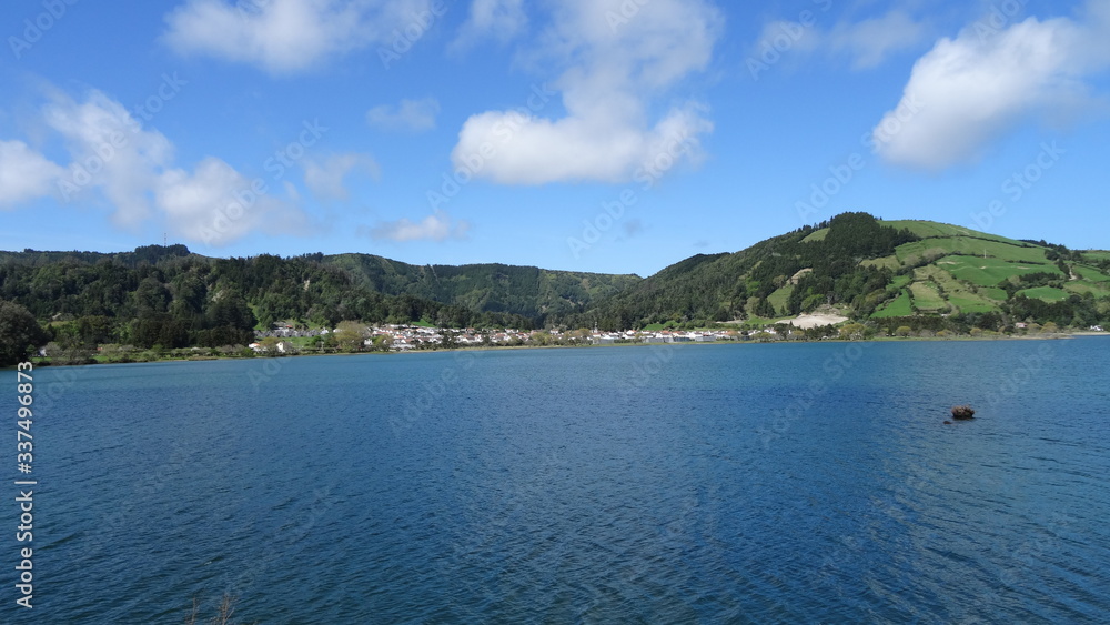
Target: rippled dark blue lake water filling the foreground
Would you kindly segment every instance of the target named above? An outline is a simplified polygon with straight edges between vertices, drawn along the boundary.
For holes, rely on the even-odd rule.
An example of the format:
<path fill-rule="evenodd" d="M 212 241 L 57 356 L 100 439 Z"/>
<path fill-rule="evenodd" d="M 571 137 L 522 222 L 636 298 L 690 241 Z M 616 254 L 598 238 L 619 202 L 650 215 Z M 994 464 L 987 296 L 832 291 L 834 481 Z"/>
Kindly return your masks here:
<path fill-rule="evenodd" d="M 1108 356 L 1091 337 L 42 369 L 34 608 L 0 621 L 182 623 L 230 592 L 243 623 L 1104 622 Z M 944 424 L 957 403 L 977 419 Z"/>

